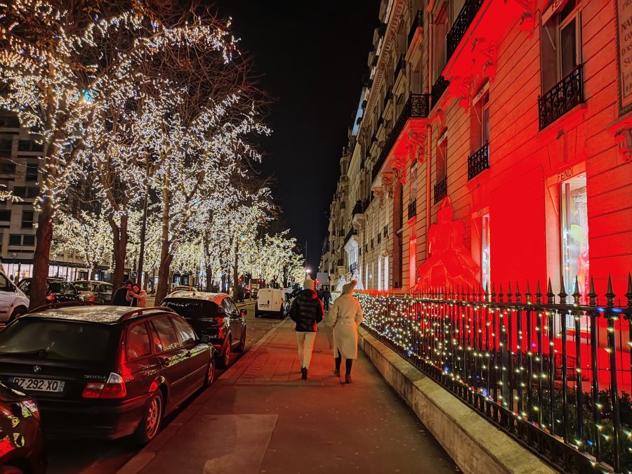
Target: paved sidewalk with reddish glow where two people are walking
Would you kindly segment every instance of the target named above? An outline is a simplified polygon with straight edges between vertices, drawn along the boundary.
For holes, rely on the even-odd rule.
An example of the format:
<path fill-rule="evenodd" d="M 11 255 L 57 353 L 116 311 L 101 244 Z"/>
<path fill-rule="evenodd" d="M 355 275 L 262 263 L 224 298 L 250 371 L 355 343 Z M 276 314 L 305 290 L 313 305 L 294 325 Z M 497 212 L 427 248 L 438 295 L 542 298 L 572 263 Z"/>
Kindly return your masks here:
<path fill-rule="evenodd" d="M 319 327 L 301 380 L 292 325 L 272 329 L 119 474 L 455 472 L 364 354 L 352 384 L 332 374 L 330 329 Z"/>

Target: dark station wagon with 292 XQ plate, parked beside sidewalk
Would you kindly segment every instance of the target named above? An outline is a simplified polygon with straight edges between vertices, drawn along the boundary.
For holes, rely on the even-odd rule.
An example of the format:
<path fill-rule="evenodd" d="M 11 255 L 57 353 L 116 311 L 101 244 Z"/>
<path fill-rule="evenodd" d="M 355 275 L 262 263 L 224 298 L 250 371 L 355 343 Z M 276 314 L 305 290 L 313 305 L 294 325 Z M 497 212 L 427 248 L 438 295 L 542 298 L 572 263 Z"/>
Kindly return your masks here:
<path fill-rule="evenodd" d="M 165 308 L 48 305 L 0 331 L 0 380 L 37 400 L 46 435 L 144 443 L 213 381 L 209 342 Z"/>

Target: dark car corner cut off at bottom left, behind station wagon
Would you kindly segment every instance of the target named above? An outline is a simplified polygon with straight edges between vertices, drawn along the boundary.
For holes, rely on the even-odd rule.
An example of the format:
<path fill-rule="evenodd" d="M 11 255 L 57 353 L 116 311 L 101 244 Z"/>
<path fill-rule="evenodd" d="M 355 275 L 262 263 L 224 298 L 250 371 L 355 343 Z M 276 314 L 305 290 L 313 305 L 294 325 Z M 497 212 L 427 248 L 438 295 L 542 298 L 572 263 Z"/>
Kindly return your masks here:
<path fill-rule="evenodd" d="M 0 473 L 45 472 L 37 402 L 21 390 L 0 383 Z"/>

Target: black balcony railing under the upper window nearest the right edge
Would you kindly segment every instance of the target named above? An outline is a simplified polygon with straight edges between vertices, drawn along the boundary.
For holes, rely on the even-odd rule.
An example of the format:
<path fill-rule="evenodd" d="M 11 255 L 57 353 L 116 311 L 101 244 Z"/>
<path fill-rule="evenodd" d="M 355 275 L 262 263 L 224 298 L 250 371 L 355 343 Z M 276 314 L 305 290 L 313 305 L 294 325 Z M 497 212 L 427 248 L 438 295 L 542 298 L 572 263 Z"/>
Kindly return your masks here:
<path fill-rule="evenodd" d="M 581 75 L 580 64 L 567 77 L 555 84 L 551 91 L 538 98 L 540 130 L 584 102 L 584 81 Z"/>

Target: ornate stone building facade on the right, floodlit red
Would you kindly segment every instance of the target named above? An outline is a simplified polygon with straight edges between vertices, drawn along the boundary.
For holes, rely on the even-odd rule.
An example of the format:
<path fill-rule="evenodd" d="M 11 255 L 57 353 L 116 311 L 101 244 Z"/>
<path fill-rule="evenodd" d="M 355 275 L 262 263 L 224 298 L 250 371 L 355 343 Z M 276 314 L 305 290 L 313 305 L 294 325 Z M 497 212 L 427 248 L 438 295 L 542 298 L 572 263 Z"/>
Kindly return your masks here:
<path fill-rule="evenodd" d="M 344 257 L 347 277 L 353 268 L 369 289 L 426 281 L 448 197 L 459 234 L 449 246 L 483 286 L 550 278 L 558 289 L 563 278 L 569 289 L 577 278 L 586 294 L 593 277 L 603 293 L 612 275 L 623 295 L 632 7 L 384 0 L 380 15 L 336 216 L 346 237 L 329 260 Z"/>

